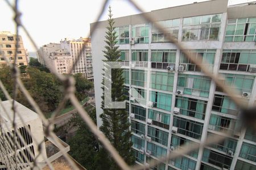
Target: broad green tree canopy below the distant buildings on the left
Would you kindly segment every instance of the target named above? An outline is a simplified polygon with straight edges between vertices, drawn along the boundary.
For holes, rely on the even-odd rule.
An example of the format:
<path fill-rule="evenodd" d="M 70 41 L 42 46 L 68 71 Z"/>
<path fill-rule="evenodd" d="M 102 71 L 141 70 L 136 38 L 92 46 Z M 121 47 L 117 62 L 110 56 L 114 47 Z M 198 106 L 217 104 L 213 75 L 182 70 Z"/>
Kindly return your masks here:
<path fill-rule="evenodd" d="M 32 63 L 35 63 L 35 66 L 38 66 L 33 59 Z M 28 92 L 30 92 L 30 95 L 34 98 L 36 103 L 38 103 L 43 113 L 48 114 L 54 111 L 63 99 L 63 86 L 56 76 L 31 66 L 19 67 L 19 69 L 21 75 L 26 75 L 22 76 L 24 86 L 27 88 Z M 89 90 L 92 87 L 92 83 L 82 77 L 81 74 L 76 74 L 74 76 L 77 89 L 76 96 L 79 100 L 83 100 L 86 97 L 86 90 Z M 2 67 L 0 69 L 0 79 L 12 97 L 14 79 L 9 67 Z M 19 89 L 17 90 L 17 93 L 16 101 L 33 109 Z M 7 100 L 2 90 L 0 90 L 0 97 L 1 100 Z"/>

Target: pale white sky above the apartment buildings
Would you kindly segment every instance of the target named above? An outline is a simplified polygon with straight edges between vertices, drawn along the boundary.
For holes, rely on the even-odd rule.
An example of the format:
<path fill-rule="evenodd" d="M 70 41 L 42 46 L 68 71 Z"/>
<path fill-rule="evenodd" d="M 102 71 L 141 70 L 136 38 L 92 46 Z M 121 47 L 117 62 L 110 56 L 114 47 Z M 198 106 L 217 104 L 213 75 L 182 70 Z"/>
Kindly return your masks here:
<path fill-rule="evenodd" d="M 10 0 L 9 0 L 10 1 Z M 156 10 L 171 6 L 179 6 L 207 0 L 136 0 L 145 11 Z M 229 4 L 250 2 L 250 0 L 229 0 Z M 22 23 L 26 26 L 38 46 L 49 42 L 59 42 L 65 37 L 78 39 L 88 35 L 90 23 L 96 19 L 103 0 L 20 0 Z M 138 14 L 126 0 L 110 0 L 114 18 Z M 109 6 L 108 5 L 108 6 Z M 106 20 L 108 11 L 105 10 L 101 20 Z M 4 0 L 0 0 L 0 31 L 15 33 L 13 22 L 14 13 Z M 30 41 L 22 35 L 24 47 L 35 51 Z"/>

